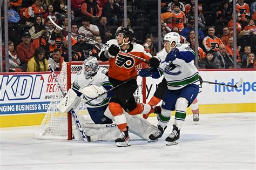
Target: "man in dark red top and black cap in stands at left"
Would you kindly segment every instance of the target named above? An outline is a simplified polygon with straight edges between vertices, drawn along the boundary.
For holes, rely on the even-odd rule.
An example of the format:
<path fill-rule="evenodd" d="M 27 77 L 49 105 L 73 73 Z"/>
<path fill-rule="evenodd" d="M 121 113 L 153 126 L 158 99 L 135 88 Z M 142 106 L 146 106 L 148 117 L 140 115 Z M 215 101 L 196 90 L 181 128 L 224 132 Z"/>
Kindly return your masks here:
<path fill-rule="evenodd" d="M 33 57 L 35 53 L 35 46 L 30 43 L 31 36 L 29 32 L 24 32 L 22 35 L 22 42 L 17 46 L 17 55 L 19 60 L 21 60 L 21 66 L 26 70 L 29 60 Z"/>

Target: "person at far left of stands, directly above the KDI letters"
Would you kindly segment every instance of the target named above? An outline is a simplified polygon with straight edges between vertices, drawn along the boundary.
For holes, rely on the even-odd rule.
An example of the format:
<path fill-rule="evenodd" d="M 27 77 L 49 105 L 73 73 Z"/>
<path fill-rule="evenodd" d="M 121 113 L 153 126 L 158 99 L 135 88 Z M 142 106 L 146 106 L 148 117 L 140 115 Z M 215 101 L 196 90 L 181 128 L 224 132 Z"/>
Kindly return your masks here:
<path fill-rule="evenodd" d="M 19 60 L 17 53 L 14 49 L 14 42 L 8 42 L 8 50 L 9 50 L 9 70 L 10 72 L 22 72 L 23 68 L 20 66 L 21 61 Z"/>

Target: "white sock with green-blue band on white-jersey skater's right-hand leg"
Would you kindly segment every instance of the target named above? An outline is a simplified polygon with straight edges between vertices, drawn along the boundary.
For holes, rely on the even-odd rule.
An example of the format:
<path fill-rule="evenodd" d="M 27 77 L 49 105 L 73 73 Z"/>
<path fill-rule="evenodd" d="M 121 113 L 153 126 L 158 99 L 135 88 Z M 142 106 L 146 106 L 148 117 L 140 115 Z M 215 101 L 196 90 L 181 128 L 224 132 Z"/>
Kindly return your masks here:
<path fill-rule="evenodd" d="M 183 123 L 186 118 L 186 110 L 188 106 L 188 101 L 185 98 L 178 98 L 176 101 L 176 113 L 175 113 L 175 119 L 174 119 L 174 124 L 180 128 L 183 126 Z"/>

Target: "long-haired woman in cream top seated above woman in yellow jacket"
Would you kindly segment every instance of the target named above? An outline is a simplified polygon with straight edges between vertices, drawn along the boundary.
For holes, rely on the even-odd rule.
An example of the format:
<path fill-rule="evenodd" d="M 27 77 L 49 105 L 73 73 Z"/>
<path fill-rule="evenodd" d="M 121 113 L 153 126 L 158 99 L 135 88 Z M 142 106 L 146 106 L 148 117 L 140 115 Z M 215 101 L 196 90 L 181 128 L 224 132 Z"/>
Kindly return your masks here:
<path fill-rule="evenodd" d="M 29 33 L 32 38 L 32 43 L 34 44 L 35 48 L 41 46 L 46 46 L 46 43 L 48 42 L 48 39 L 45 39 L 44 34 L 48 33 L 48 30 L 45 28 L 45 25 L 42 21 L 41 16 L 36 16 L 35 21 L 33 23 L 33 26 L 29 30 Z"/>

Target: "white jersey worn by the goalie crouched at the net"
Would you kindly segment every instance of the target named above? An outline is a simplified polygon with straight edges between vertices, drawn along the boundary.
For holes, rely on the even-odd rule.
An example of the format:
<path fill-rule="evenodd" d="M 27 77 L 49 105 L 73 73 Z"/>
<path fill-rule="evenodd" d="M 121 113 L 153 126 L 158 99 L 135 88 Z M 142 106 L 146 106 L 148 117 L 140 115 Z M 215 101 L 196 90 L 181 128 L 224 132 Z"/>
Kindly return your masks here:
<path fill-rule="evenodd" d="M 109 78 L 105 75 L 108 70 L 103 67 L 99 67 L 98 72 L 96 73 L 95 76 L 90 77 L 89 79 L 85 78 L 84 70 L 80 70 L 77 73 L 77 77 L 75 78 L 75 81 L 72 85 L 72 89 L 75 91 L 78 91 L 80 87 L 87 86 L 87 85 L 96 85 L 96 86 L 103 86 L 103 87 L 110 87 L 109 89 L 112 89 L 112 84 L 109 82 Z M 106 97 L 107 94 L 104 94 L 103 96 L 90 101 L 89 103 L 86 104 L 87 107 L 92 108 L 92 107 L 101 107 L 104 105 L 109 104 L 109 98 Z M 91 98 L 86 98 L 86 100 L 90 100 Z"/>

